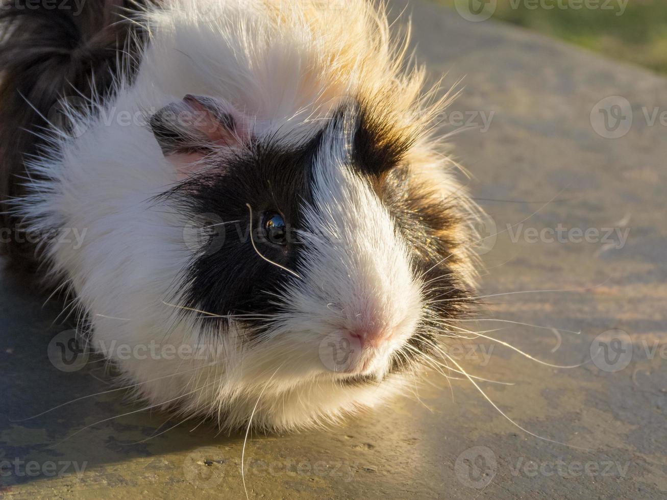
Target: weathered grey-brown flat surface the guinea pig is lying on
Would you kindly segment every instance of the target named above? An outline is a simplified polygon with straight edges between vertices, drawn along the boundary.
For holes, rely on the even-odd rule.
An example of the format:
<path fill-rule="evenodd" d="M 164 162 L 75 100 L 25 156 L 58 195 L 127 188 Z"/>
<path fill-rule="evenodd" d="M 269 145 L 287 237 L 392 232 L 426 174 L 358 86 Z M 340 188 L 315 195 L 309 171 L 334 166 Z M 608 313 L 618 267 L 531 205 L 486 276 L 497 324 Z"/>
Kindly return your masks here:
<path fill-rule="evenodd" d="M 416 395 L 345 427 L 253 436 L 249 497 L 664 498 L 667 81 L 435 5 L 412 9 L 420 59 L 434 75 L 449 71 L 450 83 L 467 75 L 450 111 L 479 127 L 451 142 L 492 217 L 482 231 L 499 233 L 486 245 L 482 295 L 570 290 L 485 299 L 484 318 L 546 329 L 471 327 L 505 327 L 490 335 L 550 363 L 584 364 L 554 369 L 498 343 L 462 341 L 452 353 L 470 373 L 514 383 L 480 387 L 526 431 L 469 381 L 450 381 L 450 391 L 431 373 Z M 629 104 L 614 98 L 600 113 L 598 101 L 614 95 Z M 622 137 L 602 137 L 621 135 L 628 117 Z M 446 117 L 451 129 L 460 118 Z M 0 497 L 245 497 L 243 436 L 195 423 L 162 433 L 177 421 L 130 413 L 141 406 L 122 393 L 17 421 L 113 386 L 93 358 L 72 373 L 51 364 L 49 340 L 67 328 L 55 321 L 57 303 L 43 307 L 11 276 L 0 290 L 0 462 L 11 462 L 0 469 Z"/>

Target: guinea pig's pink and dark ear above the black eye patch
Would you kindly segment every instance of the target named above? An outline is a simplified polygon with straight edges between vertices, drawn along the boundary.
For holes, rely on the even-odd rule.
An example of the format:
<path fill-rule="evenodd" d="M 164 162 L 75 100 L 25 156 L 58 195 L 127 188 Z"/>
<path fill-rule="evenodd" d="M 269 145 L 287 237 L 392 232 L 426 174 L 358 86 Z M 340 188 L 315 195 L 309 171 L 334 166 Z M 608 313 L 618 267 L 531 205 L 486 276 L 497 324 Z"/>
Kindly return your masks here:
<path fill-rule="evenodd" d="M 203 157 L 238 149 L 251 139 L 249 119 L 213 97 L 186 95 L 157 111 L 149 123 L 179 179 L 201 168 Z"/>

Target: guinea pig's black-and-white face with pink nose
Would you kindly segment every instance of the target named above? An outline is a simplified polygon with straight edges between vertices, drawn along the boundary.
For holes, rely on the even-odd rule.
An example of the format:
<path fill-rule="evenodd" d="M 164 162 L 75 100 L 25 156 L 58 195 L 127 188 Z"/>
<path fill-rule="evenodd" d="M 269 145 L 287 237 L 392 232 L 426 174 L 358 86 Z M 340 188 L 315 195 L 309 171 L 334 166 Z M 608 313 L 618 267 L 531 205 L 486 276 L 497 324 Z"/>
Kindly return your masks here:
<path fill-rule="evenodd" d="M 217 138 L 158 135 L 165 156 L 196 155 L 196 169 L 179 157 L 189 175 L 165 198 L 189 220 L 206 215 L 177 301 L 197 335 L 231 343 L 227 375 L 284 391 L 420 366 L 468 292 L 451 265 L 450 201 L 412 175 L 414 132 L 358 101 L 298 141 L 229 116 L 207 114 Z"/>

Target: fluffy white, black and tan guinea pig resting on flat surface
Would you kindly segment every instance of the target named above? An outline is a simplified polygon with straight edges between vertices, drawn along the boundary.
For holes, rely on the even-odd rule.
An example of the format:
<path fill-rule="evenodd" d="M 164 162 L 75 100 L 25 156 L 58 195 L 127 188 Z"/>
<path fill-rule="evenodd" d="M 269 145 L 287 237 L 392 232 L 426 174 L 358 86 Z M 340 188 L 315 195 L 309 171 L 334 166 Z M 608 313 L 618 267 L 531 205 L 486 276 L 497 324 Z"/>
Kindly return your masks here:
<path fill-rule="evenodd" d="M 442 351 L 474 303 L 476 207 L 434 133 L 446 99 L 381 7 L 13 5 L 7 253 L 68 291 L 147 409 L 324 425 Z"/>

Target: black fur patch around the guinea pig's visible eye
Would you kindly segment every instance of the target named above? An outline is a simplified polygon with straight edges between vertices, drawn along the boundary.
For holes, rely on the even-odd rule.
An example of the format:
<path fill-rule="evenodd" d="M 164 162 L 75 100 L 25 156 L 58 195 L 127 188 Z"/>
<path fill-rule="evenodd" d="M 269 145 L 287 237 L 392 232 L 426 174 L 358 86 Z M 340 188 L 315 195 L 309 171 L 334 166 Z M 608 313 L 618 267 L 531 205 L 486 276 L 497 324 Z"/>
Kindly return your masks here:
<path fill-rule="evenodd" d="M 213 315 L 270 315 L 279 309 L 281 289 L 291 279 L 289 272 L 257 255 L 261 254 L 287 269 L 297 269 L 301 206 L 311 201 L 310 165 L 319 135 L 298 147 L 287 149 L 277 143 L 252 145 L 249 151 L 231 159 L 218 160 L 210 169 L 184 181 L 161 198 L 197 221 L 221 221 L 211 239 L 183 269 L 175 289 L 185 288 L 181 305 Z M 246 203 L 253 211 L 253 241 Z M 173 206 L 173 205 L 172 205 Z M 261 216 L 277 211 L 288 228 L 287 245 L 263 239 Z M 209 216 L 210 215 L 210 216 Z M 203 216 L 203 218 L 201 217 Z M 239 222 L 234 222 L 239 221 Z M 245 327 L 261 337 L 263 316 L 239 317 Z M 205 331 L 225 327 L 228 319 L 201 315 Z"/>

